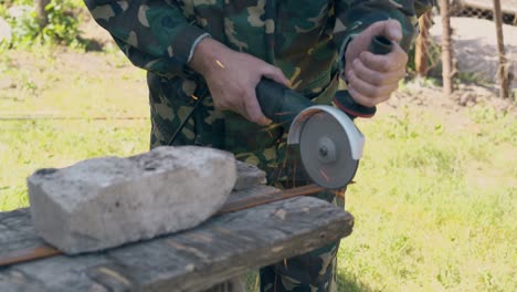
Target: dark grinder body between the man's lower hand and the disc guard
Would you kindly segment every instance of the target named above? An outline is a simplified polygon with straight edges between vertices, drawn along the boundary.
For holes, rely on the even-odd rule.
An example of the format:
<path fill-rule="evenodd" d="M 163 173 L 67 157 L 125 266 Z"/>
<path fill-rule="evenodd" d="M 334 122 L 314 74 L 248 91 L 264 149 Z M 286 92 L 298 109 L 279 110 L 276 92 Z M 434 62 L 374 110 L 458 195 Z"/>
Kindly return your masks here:
<path fill-rule="evenodd" d="M 302 94 L 268 79 L 262 79 L 255 91 L 264 115 L 287 129 L 299 112 L 314 105 Z"/>

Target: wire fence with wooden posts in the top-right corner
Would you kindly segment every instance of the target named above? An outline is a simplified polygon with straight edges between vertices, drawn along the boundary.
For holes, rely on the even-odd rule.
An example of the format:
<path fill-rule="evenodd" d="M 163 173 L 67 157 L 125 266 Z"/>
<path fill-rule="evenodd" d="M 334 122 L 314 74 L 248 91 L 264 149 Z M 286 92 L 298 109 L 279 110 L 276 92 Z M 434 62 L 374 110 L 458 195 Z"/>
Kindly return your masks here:
<path fill-rule="evenodd" d="M 414 70 L 441 76 L 444 93 L 458 82 L 517 91 L 517 0 L 441 0 L 420 19 Z"/>

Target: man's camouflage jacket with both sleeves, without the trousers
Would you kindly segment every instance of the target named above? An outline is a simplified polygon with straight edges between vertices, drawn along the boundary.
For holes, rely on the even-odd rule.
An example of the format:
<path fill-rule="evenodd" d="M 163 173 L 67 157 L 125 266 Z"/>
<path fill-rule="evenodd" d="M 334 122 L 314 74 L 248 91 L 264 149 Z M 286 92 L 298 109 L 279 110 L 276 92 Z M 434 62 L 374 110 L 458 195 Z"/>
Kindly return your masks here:
<path fill-rule="evenodd" d="M 305 95 L 330 84 L 349 38 L 397 19 L 404 43 L 434 0 L 85 0 L 95 20 L 137 66 L 196 80 L 187 63 L 203 34 L 284 71 Z M 340 53 L 340 58 L 338 58 Z"/>

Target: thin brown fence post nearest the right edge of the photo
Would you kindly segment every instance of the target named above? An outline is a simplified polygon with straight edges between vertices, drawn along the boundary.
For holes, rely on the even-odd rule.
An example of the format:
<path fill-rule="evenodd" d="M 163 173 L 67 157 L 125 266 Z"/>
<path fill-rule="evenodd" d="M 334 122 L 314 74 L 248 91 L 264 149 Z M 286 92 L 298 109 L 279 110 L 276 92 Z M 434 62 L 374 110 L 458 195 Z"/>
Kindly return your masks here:
<path fill-rule="evenodd" d="M 496 24 L 497 51 L 499 53 L 499 96 L 509 97 L 509 82 L 507 72 L 507 60 L 505 54 L 505 41 L 503 38 L 503 13 L 500 11 L 500 0 L 494 0 L 494 22 Z"/>

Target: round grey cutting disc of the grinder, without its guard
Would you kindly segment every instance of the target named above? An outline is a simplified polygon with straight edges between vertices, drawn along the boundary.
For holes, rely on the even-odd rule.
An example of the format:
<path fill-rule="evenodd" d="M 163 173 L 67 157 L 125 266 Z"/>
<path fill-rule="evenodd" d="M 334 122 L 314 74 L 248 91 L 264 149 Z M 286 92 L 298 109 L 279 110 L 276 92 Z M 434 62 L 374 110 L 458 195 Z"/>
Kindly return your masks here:
<path fill-rule="evenodd" d="M 302 161 L 314 182 L 328 189 L 347 186 L 356 175 L 359 160 L 352 158 L 344 126 L 330 114 L 310 115 L 299 133 Z"/>

